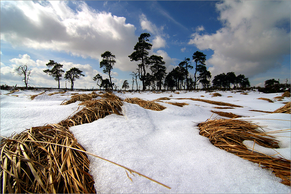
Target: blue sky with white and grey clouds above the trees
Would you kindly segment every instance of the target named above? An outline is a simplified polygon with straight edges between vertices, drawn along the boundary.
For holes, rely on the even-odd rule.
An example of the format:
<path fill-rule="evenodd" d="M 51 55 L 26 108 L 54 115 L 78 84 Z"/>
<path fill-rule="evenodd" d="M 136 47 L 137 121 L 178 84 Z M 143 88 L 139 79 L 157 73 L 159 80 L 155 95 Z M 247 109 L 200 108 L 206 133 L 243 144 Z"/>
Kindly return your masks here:
<path fill-rule="evenodd" d="M 162 56 L 167 73 L 197 50 L 206 54 L 214 76 L 233 71 L 251 86 L 265 80 L 291 80 L 290 1 L 1 1 L 0 84 L 24 86 L 13 73 L 31 69 L 30 86 L 57 87 L 43 70 L 49 60 L 63 70 L 79 68 L 85 77 L 74 88 L 97 89 L 103 73 L 101 54 L 116 56 L 112 82 L 121 89 L 137 62 L 128 55 L 142 33 L 153 45 L 149 56 Z M 194 64 L 192 62 L 192 64 Z M 147 70 L 150 72 L 150 69 Z M 193 77 L 194 69 L 190 70 Z M 141 81 L 138 82 L 141 85 Z M 64 78 L 61 88 L 70 88 Z M 136 85 L 134 85 L 136 89 Z"/>

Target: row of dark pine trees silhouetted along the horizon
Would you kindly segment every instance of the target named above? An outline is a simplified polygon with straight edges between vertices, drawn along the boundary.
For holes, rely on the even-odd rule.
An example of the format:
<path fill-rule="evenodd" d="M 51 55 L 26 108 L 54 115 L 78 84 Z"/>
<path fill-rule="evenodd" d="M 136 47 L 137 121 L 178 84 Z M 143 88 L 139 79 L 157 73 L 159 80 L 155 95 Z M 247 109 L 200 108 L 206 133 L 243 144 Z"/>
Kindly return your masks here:
<path fill-rule="evenodd" d="M 200 51 L 196 51 L 192 55 L 193 61 L 190 61 L 190 58 L 184 58 L 182 62 L 178 64 L 176 68 L 173 68 L 168 74 L 166 73 L 165 62 L 163 61 L 162 56 L 149 55 L 149 50 L 152 48 L 152 44 L 149 43 L 149 33 L 142 33 L 138 38 L 138 42 L 134 47 L 134 52 L 129 55 L 131 61 L 138 62 L 137 71 L 132 72 L 132 89 L 134 83 L 138 89 L 137 79 L 142 82 L 142 90 L 152 89 L 152 90 L 161 90 L 162 86 L 167 90 L 172 89 L 197 89 L 199 84 L 203 88 L 208 88 L 211 79 L 211 73 L 207 71 L 205 62 L 206 55 Z M 97 74 L 93 77 L 94 81 L 97 81 L 97 86 L 104 89 L 113 88 L 116 90 L 119 86 L 116 86 L 115 83 L 112 83 L 112 70 L 113 66 L 116 63 L 115 55 L 110 51 L 106 51 L 101 54 L 102 61 L 100 62 L 100 68 L 103 68 L 103 72 L 109 76 L 109 79 L 103 79 L 100 74 Z M 193 64 L 192 64 L 193 63 Z M 47 67 L 52 67 L 51 69 L 43 70 L 45 73 L 54 77 L 54 80 L 58 82 L 58 88 L 60 89 L 60 80 L 64 74 L 64 78 L 71 83 L 71 90 L 73 90 L 74 82 L 76 79 L 79 79 L 80 76 L 85 76 L 82 74 L 82 71 L 79 68 L 72 67 L 69 71 L 64 72 L 62 70 L 63 65 L 50 60 L 46 64 Z M 147 72 L 148 69 L 150 72 Z M 194 76 L 189 76 L 189 70 L 194 69 Z M 19 75 L 24 75 L 24 82 L 28 84 L 30 70 L 28 70 L 26 65 L 20 65 L 16 69 Z M 240 74 L 236 76 L 234 72 L 228 72 L 227 74 L 222 73 L 216 75 L 212 80 L 212 85 L 218 88 L 230 88 L 231 84 L 234 86 L 240 85 L 240 87 L 250 86 L 248 78 Z M 67 88 L 67 85 L 66 85 Z M 128 80 L 125 80 L 122 84 L 121 89 L 128 89 L 129 83 Z"/>

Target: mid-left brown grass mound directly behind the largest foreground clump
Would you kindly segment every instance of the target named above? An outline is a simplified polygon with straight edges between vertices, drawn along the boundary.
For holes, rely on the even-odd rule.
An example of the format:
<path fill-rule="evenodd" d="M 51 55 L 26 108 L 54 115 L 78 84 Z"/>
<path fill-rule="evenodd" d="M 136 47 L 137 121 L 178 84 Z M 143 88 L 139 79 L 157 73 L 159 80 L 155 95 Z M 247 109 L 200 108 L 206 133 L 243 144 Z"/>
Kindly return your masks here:
<path fill-rule="evenodd" d="M 85 105 L 85 108 L 73 117 L 69 117 L 58 124 L 65 127 L 71 127 L 84 123 L 91 123 L 100 118 L 104 118 L 109 114 L 122 115 L 122 101 L 118 99 L 93 99 L 82 102 L 79 105 Z"/>

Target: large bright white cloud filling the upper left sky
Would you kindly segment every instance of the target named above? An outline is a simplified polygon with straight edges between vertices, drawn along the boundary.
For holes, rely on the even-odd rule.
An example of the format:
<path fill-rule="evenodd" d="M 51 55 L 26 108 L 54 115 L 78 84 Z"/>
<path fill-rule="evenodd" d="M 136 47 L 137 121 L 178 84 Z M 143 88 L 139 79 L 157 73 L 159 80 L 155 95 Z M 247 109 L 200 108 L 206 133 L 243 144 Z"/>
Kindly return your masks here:
<path fill-rule="evenodd" d="M 76 11 L 67 1 L 1 1 L 1 41 L 99 61 L 109 50 L 118 59 L 115 68 L 135 69 L 128 58 L 138 40 L 135 26 L 124 17 L 92 10 L 85 2 L 73 3 Z"/>

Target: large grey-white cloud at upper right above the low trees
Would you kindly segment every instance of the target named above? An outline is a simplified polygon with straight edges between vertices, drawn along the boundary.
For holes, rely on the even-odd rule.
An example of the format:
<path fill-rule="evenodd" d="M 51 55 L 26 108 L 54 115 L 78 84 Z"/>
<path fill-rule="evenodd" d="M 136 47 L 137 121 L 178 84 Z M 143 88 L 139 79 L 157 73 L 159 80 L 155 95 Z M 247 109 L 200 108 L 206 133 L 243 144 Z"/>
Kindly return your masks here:
<path fill-rule="evenodd" d="M 214 54 L 206 61 L 213 75 L 234 71 L 252 77 L 280 66 L 290 54 L 290 1 L 224 1 L 216 4 L 223 27 L 191 35 L 188 44 Z"/>

